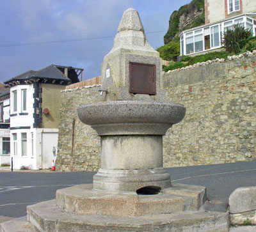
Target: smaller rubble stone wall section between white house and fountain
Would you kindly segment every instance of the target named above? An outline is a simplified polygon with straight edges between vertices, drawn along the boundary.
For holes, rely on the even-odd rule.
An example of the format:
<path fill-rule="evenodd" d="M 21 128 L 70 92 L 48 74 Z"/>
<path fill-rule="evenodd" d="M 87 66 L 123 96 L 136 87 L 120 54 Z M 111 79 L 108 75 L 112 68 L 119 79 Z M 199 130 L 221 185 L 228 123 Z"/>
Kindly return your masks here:
<path fill-rule="evenodd" d="M 56 171 L 96 171 L 100 167 L 100 138 L 79 121 L 79 105 L 97 102 L 99 85 L 61 91 Z"/>

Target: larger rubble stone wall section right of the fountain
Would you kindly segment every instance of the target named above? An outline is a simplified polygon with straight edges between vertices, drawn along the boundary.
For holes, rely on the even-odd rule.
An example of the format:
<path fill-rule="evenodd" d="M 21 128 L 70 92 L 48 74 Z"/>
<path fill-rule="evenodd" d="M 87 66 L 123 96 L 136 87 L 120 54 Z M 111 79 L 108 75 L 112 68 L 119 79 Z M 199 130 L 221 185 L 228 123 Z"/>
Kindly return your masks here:
<path fill-rule="evenodd" d="M 256 56 L 248 54 L 164 74 L 168 100 L 186 107 L 164 136 L 164 167 L 256 159 Z"/>

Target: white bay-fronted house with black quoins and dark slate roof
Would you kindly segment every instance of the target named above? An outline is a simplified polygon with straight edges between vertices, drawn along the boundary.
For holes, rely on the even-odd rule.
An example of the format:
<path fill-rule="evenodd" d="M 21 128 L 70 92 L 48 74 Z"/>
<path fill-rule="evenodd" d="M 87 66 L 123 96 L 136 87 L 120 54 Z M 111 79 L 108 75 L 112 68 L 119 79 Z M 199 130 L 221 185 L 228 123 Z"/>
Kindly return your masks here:
<path fill-rule="evenodd" d="M 60 91 L 79 82 L 82 68 L 50 65 L 4 82 L 10 88 L 13 168 L 47 169 L 58 151 Z"/>

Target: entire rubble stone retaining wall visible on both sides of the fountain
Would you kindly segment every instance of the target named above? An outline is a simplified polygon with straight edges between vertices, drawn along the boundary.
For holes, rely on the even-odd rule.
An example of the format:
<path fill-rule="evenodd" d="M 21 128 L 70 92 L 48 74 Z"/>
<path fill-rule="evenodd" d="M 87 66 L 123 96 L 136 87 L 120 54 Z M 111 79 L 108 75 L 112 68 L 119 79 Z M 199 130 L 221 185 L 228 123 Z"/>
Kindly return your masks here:
<path fill-rule="evenodd" d="M 255 63 L 256 51 L 164 73 L 168 102 L 186 107 L 184 120 L 163 138 L 164 167 L 256 159 Z M 98 88 L 61 92 L 57 170 L 99 169 L 100 139 L 76 116 L 79 105 L 97 101 Z"/>

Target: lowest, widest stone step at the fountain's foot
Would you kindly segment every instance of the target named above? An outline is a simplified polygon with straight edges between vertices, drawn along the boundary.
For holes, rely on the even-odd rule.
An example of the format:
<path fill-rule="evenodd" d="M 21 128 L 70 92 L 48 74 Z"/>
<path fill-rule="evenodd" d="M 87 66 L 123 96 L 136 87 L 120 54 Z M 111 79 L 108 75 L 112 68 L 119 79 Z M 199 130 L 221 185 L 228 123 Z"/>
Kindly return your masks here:
<path fill-rule="evenodd" d="M 228 213 L 187 211 L 136 217 L 76 215 L 61 210 L 55 200 L 28 206 L 36 231 L 228 231 Z M 8 230 L 4 232 L 10 232 Z"/>

